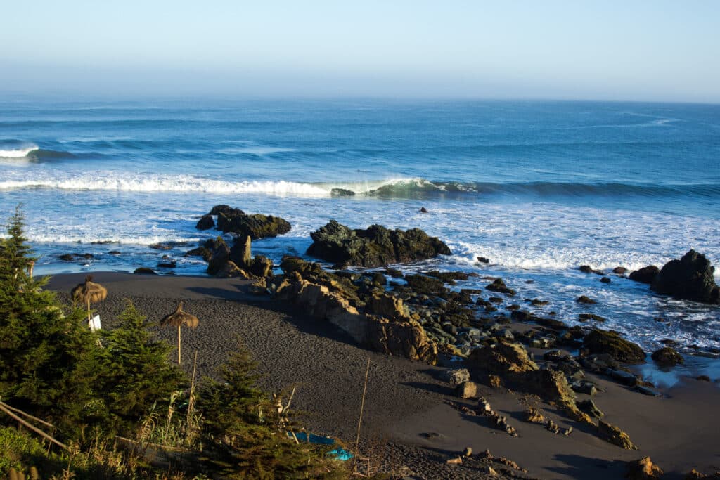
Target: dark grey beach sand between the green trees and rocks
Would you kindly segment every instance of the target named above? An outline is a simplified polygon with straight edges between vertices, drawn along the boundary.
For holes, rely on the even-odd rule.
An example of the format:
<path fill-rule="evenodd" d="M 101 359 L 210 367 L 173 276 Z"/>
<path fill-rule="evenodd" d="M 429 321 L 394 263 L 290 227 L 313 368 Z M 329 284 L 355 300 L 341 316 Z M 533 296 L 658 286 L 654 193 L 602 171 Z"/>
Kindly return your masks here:
<path fill-rule="evenodd" d="M 67 292 L 83 279 L 84 274 L 55 276 L 48 288 L 68 299 Z M 445 403 L 457 399 L 438 380 L 444 368 L 365 350 L 326 322 L 305 317 L 269 297 L 247 294 L 247 282 L 102 272 L 94 273 L 94 281 L 109 291 L 107 300 L 95 306 L 104 328 L 112 327 L 124 298 L 131 298 L 151 320 L 172 312 L 181 299 L 186 312 L 200 320 L 197 330 L 183 332 L 186 371 L 192 369 L 192 354 L 197 350 L 199 373 L 212 375 L 239 341 L 258 362 L 264 389 L 297 386 L 293 405 L 307 412 L 305 425 L 348 444 L 354 444 L 370 358 L 363 445 L 366 450 L 384 449 L 385 463 L 404 475 L 485 478 L 480 463 L 445 464 L 467 446 L 474 452 L 490 449 L 493 455 L 527 468 L 528 476 L 541 479 L 622 478 L 626 461 L 642 456 L 651 456 L 667 479 L 681 479 L 691 468 L 706 474 L 720 469 L 720 416 L 716 415 L 720 389 L 716 383 L 683 379 L 670 389 L 660 389 L 662 398 L 654 398 L 597 378 L 606 391 L 594 397 L 595 403 L 608 422 L 630 435 L 640 448 L 636 451 L 600 440 L 588 427 L 540 403 L 561 427 L 574 428 L 567 437 L 549 433 L 522 420 L 525 396 L 482 386 L 481 394 L 501 415 L 508 415 L 518 430 L 520 436 L 512 438 L 490 427 L 485 417 L 466 417 Z M 158 336 L 176 343 L 175 329 L 158 327 Z M 438 435 L 428 439 L 423 435 L 427 433 Z"/>

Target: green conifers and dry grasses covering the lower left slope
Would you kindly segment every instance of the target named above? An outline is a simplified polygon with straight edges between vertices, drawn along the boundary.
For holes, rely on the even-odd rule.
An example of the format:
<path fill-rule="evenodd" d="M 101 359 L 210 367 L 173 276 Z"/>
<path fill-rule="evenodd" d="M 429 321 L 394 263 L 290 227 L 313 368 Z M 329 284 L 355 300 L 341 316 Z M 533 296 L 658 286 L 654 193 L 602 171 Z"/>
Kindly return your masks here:
<path fill-rule="evenodd" d="M 195 389 L 128 301 L 112 330 L 32 277 L 18 208 L 0 240 L 0 477 L 343 478 L 328 445 L 292 438 L 287 412 L 239 349 Z M 86 307 L 84 305 L 83 307 Z"/>

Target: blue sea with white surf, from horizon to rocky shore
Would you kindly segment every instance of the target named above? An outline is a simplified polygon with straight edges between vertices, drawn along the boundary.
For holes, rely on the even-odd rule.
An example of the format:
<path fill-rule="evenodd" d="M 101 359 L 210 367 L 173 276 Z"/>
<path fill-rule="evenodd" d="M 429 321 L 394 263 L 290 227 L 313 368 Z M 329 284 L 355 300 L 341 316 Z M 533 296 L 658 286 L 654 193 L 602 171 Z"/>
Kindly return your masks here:
<path fill-rule="evenodd" d="M 405 268 L 474 271 L 464 286 L 481 288 L 503 276 L 519 302 L 548 299 L 546 313 L 570 323 L 600 314 L 647 350 L 672 338 L 720 351 L 718 307 L 577 271 L 662 266 L 690 248 L 720 265 L 719 105 L 3 99 L 0 211 L 19 203 L 39 273 L 132 271 L 168 255 L 177 274 L 202 274 L 182 254 L 217 235 L 194 224 L 224 203 L 292 223 L 253 244 L 274 261 L 303 255 L 329 219 L 420 227 L 454 255 Z"/>

